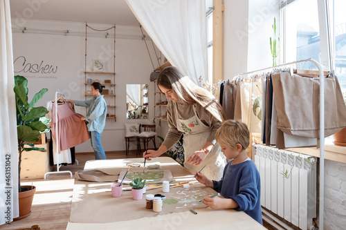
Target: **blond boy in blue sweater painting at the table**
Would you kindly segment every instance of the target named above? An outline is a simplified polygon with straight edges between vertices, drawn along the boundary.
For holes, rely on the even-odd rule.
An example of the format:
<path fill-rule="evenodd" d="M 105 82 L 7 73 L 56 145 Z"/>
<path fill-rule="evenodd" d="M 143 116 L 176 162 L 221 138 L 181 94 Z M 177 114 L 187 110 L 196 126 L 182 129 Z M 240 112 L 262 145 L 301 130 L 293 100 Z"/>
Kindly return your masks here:
<path fill-rule="evenodd" d="M 246 155 L 250 143 L 250 133 L 246 124 L 228 119 L 215 134 L 215 140 L 220 144 L 221 151 L 230 160 L 224 169 L 221 180 L 210 180 L 197 173 L 196 179 L 210 186 L 224 198 L 209 198 L 202 200 L 212 209 L 235 209 L 244 211 L 262 224 L 260 204 L 260 173 L 255 163 Z"/>

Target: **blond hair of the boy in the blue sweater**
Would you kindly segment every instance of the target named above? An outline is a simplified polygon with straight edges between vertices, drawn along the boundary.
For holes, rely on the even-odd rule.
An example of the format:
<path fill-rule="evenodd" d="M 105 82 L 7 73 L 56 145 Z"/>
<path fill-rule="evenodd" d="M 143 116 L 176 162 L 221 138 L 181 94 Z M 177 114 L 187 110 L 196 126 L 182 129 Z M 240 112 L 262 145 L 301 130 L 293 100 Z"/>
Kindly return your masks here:
<path fill-rule="evenodd" d="M 248 126 L 243 122 L 228 119 L 215 133 L 215 140 L 220 145 L 235 148 L 237 144 L 242 145 L 242 150 L 248 148 L 250 144 L 250 132 Z"/>

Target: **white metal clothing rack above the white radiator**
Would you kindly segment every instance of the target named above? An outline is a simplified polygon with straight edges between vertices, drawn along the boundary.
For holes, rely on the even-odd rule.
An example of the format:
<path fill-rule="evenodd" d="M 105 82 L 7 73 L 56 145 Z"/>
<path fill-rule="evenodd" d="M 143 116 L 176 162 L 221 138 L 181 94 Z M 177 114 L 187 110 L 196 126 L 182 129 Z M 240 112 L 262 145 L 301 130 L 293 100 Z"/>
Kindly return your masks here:
<path fill-rule="evenodd" d="M 315 61 L 314 59 L 302 59 L 299 61 L 292 61 L 286 64 L 282 64 L 279 66 L 273 66 L 268 68 L 262 68 L 260 70 L 254 70 L 248 73 L 241 73 L 235 75 L 233 79 L 237 79 L 237 77 L 242 77 L 243 75 L 249 75 L 252 73 L 259 73 L 264 70 L 273 70 L 276 68 L 291 66 L 290 71 L 291 75 L 293 75 L 293 65 L 301 62 L 311 61 L 318 68 L 319 78 L 320 78 L 320 198 L 319 198 L 319 224 L 318 227 L 320 230 L 323 230 L 324 223 L 324 207 L 325 207 L 325 77 L 322 70 L 322 66 Z"/>

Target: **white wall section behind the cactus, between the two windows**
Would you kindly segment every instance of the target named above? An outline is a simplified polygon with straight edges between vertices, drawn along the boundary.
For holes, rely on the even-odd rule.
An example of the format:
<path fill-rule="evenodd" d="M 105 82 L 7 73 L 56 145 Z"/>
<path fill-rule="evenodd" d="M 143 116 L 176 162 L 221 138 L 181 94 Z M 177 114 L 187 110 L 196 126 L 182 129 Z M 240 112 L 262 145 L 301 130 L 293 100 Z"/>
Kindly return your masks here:
<path fill-rule="evenodd" d="M 278 1 L 230 0 L 224 7 L 223 79 L 272 66 L 269 38 L 274 17 L 280 32 Z"/>

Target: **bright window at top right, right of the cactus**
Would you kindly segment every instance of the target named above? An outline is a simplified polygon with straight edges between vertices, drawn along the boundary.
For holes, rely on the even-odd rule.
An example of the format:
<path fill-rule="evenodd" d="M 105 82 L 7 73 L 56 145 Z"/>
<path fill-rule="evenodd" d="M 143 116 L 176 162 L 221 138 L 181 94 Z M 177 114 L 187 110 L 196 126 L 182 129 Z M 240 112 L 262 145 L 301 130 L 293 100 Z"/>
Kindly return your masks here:
<path fill-rule="evenodd" d="M 318 1 L 316 0 L 286 0 L 280 5 L 282 15 L 283 59 L 284 63 L 300 59 L 313 58 L 320 63 L 331 62 L 331 69 L 338 77 L 342 92 L 346 95 L 346 1 L 328 0 L 329 28 L 320 30 Z M 325 14 L 325 12 L 322 12 Z M 326 31 L 326 32 L 324 32 Z M 329 56 L 331 60 L 321 60 L 320 35 L 330 35 Z M 322 34 L 325 33 L 325 34 Z M 309 65 L 309 66 L 307 66 Z M 309 62 L 298 64 L 298 68 L 314 69 L 316 66 Z"/>

